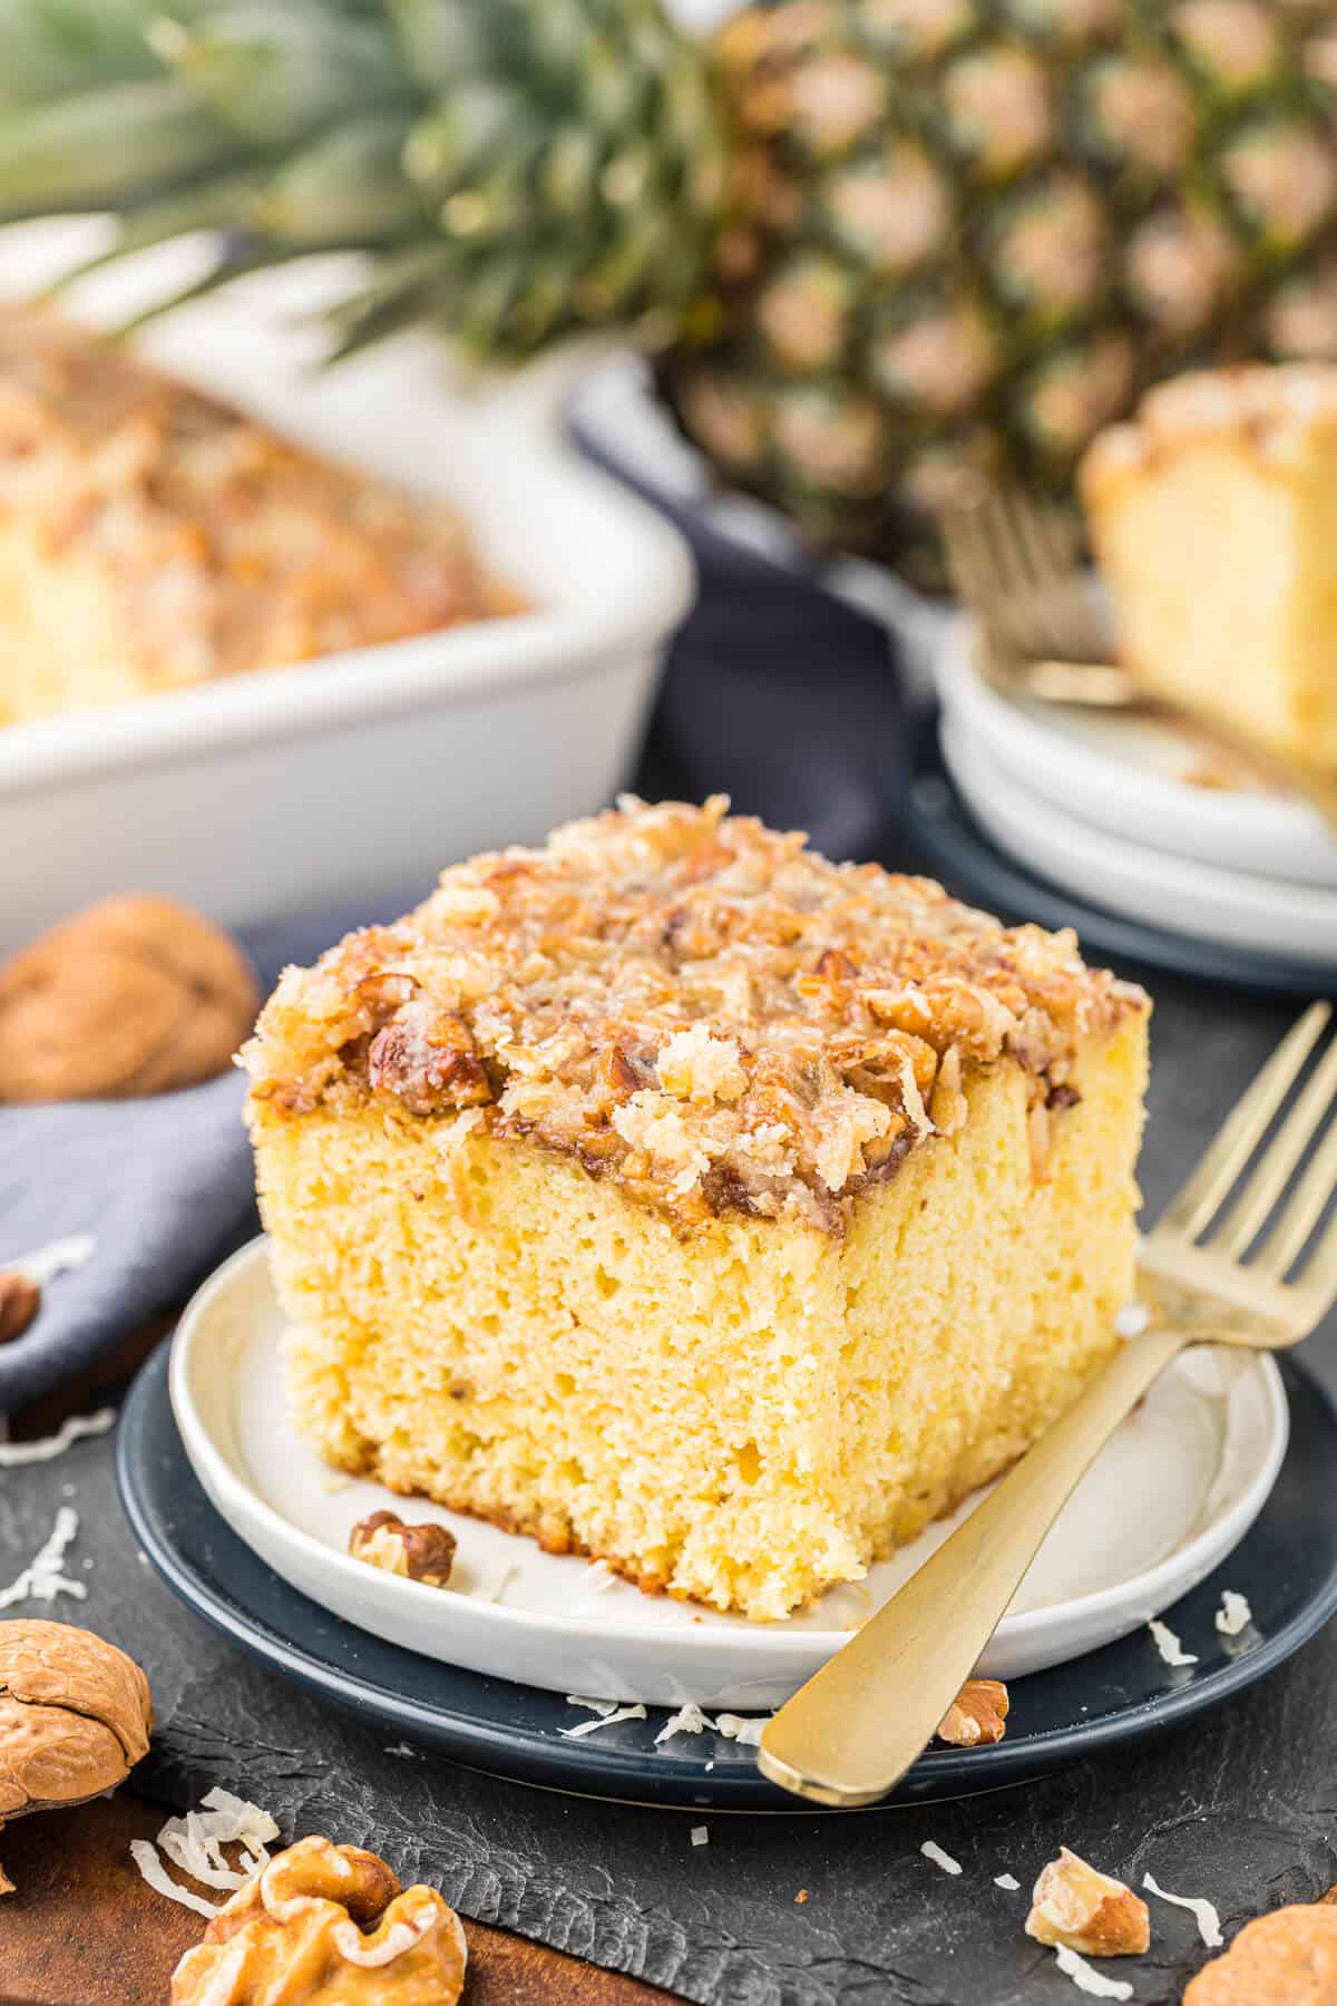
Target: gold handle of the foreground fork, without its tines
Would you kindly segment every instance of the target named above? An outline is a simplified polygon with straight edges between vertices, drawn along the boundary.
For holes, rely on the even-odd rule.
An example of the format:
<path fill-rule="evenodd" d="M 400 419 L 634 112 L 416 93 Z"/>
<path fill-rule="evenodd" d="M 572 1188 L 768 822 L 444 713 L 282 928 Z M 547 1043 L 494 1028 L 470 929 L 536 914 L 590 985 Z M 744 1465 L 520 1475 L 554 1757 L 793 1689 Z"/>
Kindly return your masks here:
<path fill-rule="evenodd" d="M 768 1721 L 762 1771 L 816 1803 L 874 1803 L 932 1739 L 1044 1535 L 1159 1372 L 1199 1340 L 1153 1324 L 1115 1352 L 982 1504 Z"/>

